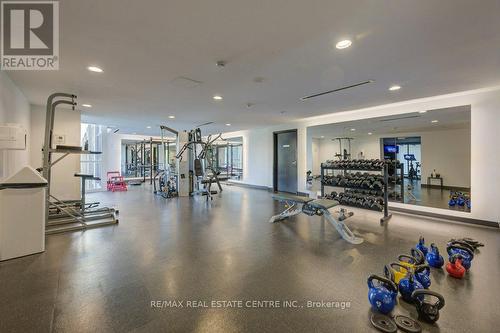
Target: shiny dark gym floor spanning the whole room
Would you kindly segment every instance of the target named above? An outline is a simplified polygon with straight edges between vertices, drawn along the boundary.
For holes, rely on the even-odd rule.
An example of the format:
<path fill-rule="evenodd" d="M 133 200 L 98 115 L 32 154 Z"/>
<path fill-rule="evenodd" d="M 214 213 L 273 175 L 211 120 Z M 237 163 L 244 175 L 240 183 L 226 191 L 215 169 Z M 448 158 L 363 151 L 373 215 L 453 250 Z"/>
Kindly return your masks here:
<path fill-rule="evenodd" d="M 355 210 L 347 223 L 365 242 L 351 245 L 320 217 L 269 224 L 279 204 L 262 190 L 226 186 L 212 203 L 164 200 L 146 185 L 91 197 L 117 206 L 120 224 L 53 235 L 45 253 L 0 263 L 0 332 L 372 331 L 366 278 L 420 235 L 443 251 L 450 237 L 486 244 L 466 279 L 432 272 L 431 289 L 446 306 L 425 330 L 500 326 L 498 229 L 396 214 L 381 227 L 379 213 Z M 184 307 L 152 307 L 157 300 Z M 192 308 L 189 300 L 298 307 Z M 348 303 L 308 308 L 307 301 Z M 400 301 L 394 313 L 415 316 L 415 309 Z"/>

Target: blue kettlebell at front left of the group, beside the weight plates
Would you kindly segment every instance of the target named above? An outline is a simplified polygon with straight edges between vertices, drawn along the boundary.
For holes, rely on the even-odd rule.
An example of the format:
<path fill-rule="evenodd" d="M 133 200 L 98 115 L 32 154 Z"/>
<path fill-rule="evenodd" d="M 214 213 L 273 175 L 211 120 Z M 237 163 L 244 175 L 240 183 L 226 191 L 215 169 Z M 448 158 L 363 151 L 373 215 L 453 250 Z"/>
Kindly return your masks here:
<path fill-rule="evenodd" d="M 379 283 L 375 285 L 373 281 L 378 281 Z M 383 314 L 391 312 L 397 302 L 397 285 L 394 282 L 378 275 L 370 275 L 367 283 L 368 301 L 372 305 L 372 308 Z"/>

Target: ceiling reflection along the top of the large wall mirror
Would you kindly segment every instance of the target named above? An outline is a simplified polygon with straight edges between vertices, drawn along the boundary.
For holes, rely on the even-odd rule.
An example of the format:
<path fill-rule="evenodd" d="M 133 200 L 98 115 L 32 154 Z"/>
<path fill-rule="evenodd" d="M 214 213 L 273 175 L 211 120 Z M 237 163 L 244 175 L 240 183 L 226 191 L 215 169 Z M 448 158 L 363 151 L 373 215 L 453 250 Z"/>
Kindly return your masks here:
<path fill-rule="evenodd" d="M 317 139 L 359 138 L 367 137 L 368 133 L 372 133 L 371 135 L 374 136 L 386 136 L 398 133 L 417 134 L 419 132 L 470 128 L 470 105 L 426 111 L 425 113 L 415 112 L 312 126 L 308 127 L 307 135 Z M 437 120 L 437 122 L 433 123 L 433 120 Z"/>

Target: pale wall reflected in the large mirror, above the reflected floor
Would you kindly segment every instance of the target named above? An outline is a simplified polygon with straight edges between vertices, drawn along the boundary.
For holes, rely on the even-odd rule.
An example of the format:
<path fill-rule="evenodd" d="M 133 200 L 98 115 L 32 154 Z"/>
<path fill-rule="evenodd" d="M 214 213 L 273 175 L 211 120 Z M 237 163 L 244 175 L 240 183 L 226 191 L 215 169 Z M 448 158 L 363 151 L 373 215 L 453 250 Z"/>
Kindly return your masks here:
<path fill-rule="evenodd" d="M 351 144 L 351 153 L 353 158 L 359 158 L 360 152 L 363 152 L 366 159 L 381 158 L 381 138 L 419 136 L 422 140 L 422 184 L 427 184 L 427 177 L 436 169 L 444 178 L 446 186 L 470 187 L 470 135 L 470 128 L 374 134 L 355 138 Z M 338 142 L 328 138 L 317 140 L 320 142 L 319 156 L 313 153 L 313 159 L 318 158 L 322 162 L 334 159 L 335 153 L 339 151 Z M 314 150 L 314 146 L 312 149 Z"/>

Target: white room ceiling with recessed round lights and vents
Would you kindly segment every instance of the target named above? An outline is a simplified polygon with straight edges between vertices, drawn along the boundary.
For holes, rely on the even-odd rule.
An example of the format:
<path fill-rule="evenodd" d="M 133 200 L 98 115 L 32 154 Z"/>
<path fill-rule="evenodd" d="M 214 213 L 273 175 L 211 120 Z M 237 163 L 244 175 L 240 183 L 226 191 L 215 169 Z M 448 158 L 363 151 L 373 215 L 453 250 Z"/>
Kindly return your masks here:
<path fill-rule="evenodd" d="M 60 11 L 61 69 L 9 76 L 34 104 L 76 93 L 93 105 L 85 121 L 121 133 L 247 129 L 500 83 L 498 0 L 63 0 Z M 352 47 L 335 49 L 345 37 Z"/>

